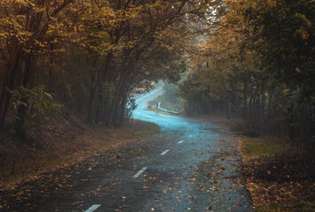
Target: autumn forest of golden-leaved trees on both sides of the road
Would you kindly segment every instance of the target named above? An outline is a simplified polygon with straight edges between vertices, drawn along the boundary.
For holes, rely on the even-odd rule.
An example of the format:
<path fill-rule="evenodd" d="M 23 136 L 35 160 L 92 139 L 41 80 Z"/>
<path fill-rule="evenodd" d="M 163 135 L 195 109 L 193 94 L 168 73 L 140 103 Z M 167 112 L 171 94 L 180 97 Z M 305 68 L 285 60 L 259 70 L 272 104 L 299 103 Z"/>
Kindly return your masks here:
<path fill-rule="evenodd" d="M 314 0 L 2 0 L 0 146 L 41 147 L 59 116 L 120 128 L 164 80 L 183 116 L 311 157 L 314 23 Z"/>

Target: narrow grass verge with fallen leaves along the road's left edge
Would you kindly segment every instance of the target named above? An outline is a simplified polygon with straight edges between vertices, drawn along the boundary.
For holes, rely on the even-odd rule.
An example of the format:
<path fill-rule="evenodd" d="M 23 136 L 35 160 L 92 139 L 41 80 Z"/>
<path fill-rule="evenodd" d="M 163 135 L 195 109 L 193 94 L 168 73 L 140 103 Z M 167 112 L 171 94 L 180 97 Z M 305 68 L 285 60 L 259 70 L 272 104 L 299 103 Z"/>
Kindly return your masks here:
<path fill-rule="evenodd" d="M 25 153 L 15 161 L 8 161 L 0 167 L 0 189 L 28 179 L 40 178 L 45 171 L 57 170 L 83 159 L 97 155 L 108 148 L 118 147 L 129 142 L 157 133 L 158 125 L 140 120 L 131 120 L 122 128 L 89 128 L 74 139 L 58 140 L 48 149 L 35 149 L 21 146 Z"/>

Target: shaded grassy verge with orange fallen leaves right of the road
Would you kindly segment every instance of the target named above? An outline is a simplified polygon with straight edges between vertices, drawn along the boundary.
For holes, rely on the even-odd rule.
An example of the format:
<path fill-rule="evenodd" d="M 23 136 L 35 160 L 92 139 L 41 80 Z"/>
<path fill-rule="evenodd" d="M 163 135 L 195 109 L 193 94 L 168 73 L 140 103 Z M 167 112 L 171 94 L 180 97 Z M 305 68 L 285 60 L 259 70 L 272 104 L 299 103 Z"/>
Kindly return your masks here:
<path fill-rule="evenodd" d="M 240 136 L 240 152 L 256 211 L 315 211 L 315 163 L 308 149 L 276 136 Z"/>

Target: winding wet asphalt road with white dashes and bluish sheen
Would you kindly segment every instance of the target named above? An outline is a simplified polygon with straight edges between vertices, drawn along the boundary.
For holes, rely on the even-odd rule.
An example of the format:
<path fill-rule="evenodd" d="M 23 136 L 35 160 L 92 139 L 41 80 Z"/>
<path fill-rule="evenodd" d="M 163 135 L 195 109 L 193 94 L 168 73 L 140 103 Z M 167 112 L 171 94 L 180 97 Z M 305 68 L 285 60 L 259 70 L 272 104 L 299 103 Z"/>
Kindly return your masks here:
<path fill-rule="evenodd" d="M 161 92 L 138 96 L 133 113 L 160 133 L 17 188 L 10 211 L 251 211 L 237 138 L 209 121 L 146 110 Z"/>

